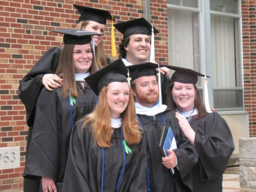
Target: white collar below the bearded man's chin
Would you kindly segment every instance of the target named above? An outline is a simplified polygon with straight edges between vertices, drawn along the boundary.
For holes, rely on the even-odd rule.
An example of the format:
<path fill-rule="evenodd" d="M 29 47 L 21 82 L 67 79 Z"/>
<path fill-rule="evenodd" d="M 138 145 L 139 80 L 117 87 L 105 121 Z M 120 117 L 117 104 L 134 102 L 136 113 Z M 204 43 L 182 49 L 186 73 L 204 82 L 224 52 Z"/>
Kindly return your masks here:
<path fill-rule="evenodd" d="M 152 107 L 144 107 L 139 103 L 135 102 L 135 108 L 136 108 L 136 113 L 139 115 L 154 116 L 156 114 L 160 114 L 161 112 L 164 112 L 167 106 L 159 105 L 158 103 Z"/>

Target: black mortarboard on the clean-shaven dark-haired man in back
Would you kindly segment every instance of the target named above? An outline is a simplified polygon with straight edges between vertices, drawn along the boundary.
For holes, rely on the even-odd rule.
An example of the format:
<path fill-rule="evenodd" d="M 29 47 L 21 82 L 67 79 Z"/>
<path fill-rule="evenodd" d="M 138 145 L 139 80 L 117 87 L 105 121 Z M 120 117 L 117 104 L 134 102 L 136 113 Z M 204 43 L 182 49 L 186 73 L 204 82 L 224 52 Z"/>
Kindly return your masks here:
<path fill-rule="evenodd" d="M 127 22 L 114 24 L 114 26 L 121 32 L 121 34 L 123 34 L 123 39 L 134 34 L 151 35 L 152 25 L 144 18 L 128 20 Z M 153 28 L 154 34 L 159 33 L 155 27 Z"/>

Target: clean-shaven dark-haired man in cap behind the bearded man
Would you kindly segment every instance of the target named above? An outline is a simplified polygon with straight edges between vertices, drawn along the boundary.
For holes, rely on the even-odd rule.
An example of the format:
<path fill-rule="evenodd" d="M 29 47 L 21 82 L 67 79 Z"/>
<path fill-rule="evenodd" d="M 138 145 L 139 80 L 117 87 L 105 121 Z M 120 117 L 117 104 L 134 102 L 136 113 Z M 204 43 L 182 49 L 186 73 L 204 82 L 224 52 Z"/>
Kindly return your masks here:
<path fill-rule="evenodd" d="M 159 31 L 150 22 L 144 18 L 138 18 L 116 23 L 114 26 L 123 34 L 118 51 L 126 66 L 148 62 L 148 57 L 150 57 L 150 62 L 155 62 L 154 34 L 158 34 Z M 160 72 L 163 103 L 165 104 L 170 84 L 170 71 L 163 65 L 160 67 Z"/>

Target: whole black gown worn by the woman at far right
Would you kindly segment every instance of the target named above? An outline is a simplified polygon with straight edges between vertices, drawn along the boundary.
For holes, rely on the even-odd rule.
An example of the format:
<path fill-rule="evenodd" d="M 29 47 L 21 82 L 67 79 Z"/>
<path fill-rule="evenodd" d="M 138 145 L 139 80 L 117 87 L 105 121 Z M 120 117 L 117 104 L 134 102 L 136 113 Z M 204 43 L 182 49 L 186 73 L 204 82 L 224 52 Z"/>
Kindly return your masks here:
<path fill-rule="evenodd" d="M 194 191 L 222 191 L 222 174 L 234 151 L 228 124 L 217 112 L 194 120 L 195 148 L 199 162 L 192 169 Z"/>

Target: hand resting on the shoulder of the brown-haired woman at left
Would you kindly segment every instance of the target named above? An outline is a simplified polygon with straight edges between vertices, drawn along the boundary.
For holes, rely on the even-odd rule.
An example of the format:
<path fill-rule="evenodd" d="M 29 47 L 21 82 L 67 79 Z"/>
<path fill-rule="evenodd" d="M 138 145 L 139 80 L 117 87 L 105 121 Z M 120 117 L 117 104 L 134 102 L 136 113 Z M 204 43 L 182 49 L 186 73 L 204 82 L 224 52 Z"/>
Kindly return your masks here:
<path fill-rule="evenodd" d="M 56 74 L 45 74 L 43 76 L 43 85 L 46 86 L 46 89 L 52 91 L 52 88 L 58 88 L 63 85 L 63 79 L 61 79 Z"/>

